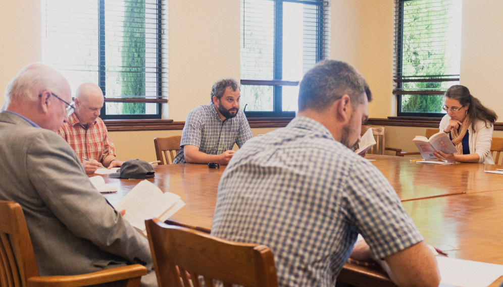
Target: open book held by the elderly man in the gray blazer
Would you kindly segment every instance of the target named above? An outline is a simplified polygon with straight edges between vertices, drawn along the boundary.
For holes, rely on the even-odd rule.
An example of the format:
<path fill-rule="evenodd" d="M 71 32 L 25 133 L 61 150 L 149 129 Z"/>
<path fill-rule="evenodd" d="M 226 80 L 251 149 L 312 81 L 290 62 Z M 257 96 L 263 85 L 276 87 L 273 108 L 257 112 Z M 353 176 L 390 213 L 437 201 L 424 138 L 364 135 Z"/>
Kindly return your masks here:
<path fill-rule="evenodd" d="M 157 217 L 165 221 L 184 205 L 179 195 L 163 193 L 153 183 L 143 180 L 114 207 L 117 210 L 125 209 L 124 218 L 146 236 L 146 218 Z"/>

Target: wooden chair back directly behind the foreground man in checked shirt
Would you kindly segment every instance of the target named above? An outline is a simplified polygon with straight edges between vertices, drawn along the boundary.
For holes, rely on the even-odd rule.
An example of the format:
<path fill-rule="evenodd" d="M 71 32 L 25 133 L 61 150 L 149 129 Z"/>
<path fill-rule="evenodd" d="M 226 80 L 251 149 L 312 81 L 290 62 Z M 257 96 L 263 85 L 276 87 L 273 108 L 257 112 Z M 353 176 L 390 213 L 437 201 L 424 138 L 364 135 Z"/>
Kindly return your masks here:
<path fill-rule="evenodd" d="M 213 279 L 226 287 L 278 285 L 274 255 L 265 245 L 218 239 L 157 218 L 145 220 L 145 225 L 159 287 L 189 287 L 190 278 L 198 275 L 208 287 L 214 286 Z M 192 283 L 200 287 L 198 280 Z"/>

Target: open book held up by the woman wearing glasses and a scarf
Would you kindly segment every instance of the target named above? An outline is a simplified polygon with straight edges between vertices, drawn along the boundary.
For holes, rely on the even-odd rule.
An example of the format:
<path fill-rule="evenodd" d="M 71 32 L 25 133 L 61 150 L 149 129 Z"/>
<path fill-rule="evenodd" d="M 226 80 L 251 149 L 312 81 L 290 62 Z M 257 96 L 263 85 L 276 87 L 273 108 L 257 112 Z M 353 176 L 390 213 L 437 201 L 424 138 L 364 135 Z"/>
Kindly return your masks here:
<path fill-rule="evenodd" d="M 449 136 L 444 132 L 438 132 L 432 135 L 430 139 L 416 136 L 412 141 L 416 144 L 424 159 L 435 158 L 433 152 L 437 150 L 447 154 L 458 152 Z"/>

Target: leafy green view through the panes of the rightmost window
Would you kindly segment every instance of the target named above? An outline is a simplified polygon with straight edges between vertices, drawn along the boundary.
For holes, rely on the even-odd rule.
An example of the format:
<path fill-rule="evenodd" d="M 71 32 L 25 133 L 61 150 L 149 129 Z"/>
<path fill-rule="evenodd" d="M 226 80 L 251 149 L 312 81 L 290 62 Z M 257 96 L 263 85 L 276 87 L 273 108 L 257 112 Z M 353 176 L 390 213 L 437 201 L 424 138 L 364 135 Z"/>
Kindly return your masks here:
<path fill-rule="evenodd" d="M 452 47 L 452 8 L 457 0 L 418 0 L 403 3 L 403 76 L 459 74 Z M 454 55 L 453 55 L 454 54 Z M 441 91 L 452 82 L 405 82 L 403 90 Z M 403 112 L 442 112 L 442 95 L 403 95 Z"/>

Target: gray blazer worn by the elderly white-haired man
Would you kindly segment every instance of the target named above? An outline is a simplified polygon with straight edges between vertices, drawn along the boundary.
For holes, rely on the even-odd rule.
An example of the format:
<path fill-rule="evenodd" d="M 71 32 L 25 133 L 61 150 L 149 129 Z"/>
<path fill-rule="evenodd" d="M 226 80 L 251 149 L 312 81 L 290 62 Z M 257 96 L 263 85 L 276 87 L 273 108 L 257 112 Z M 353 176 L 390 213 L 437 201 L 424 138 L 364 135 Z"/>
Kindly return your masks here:
<path fill-rule="evenodd" d="M 40 275 L 74 275 L 140 263 L 148 241 L 91 185 L 56 133 L 0 113 L 0 199 L 19 203 Z"/>

